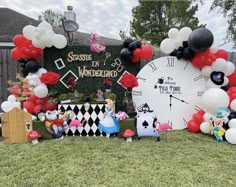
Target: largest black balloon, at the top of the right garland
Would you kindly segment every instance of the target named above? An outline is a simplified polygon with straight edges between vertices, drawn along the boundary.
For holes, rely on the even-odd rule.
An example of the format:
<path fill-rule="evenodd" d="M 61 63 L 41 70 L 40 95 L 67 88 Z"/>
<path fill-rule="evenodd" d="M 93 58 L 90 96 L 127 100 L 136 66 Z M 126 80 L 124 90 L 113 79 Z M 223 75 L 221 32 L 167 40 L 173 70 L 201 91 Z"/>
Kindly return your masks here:
<path fill-rule="evenodd" d="M 214 36 L 208 29 L 195 29 L 188 38 L 189 47 L 195 52 L 205 51 L 213 44 Z"/>

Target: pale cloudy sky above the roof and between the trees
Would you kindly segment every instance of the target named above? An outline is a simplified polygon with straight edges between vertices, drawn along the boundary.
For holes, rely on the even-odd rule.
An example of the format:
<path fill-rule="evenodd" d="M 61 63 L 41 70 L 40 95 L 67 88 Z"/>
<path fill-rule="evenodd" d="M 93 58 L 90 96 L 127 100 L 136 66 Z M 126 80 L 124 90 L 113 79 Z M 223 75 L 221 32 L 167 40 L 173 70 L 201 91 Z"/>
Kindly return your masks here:
<path fill-rule="evenodd" d="M 218 12 L 209 13 L 212 0 L 204 1 L 199 6 L 196 16 L 200 23 L 207 24 L 218 45 L 224 43 L 227 32 L 227 20 Z M 67 6 L 73 6 L 80 32 L 96 33 L 100 36 L 120 39 L 120 30 L 129 28 L 132 20 L 132 8 L 138 5 L 138 0 L 0 0 L 0 7 L 7 7 L 29 17 L 38 18 L 46 9 L 63 13 Z M 1 29 L 1 28 L 0 28 Z M 233 51 L 233 44 L 228 43 L 220 48 Z"/>

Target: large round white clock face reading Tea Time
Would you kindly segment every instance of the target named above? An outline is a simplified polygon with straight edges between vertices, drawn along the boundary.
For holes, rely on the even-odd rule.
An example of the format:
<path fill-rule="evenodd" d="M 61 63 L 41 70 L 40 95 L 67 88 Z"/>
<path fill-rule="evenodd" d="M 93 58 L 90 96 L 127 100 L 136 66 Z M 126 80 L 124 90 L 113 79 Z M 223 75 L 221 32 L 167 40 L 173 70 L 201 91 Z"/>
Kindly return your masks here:
<path fill-rule="evenodd" d="M 137 75 L 139 86 L 132 90 L 136 110 L 147 103 L 158 121 L 173 129 L 184 129 L 201 109 L 200 97 L 206 80 L 191 62 L 161 57 L 146 64 Z"/>

